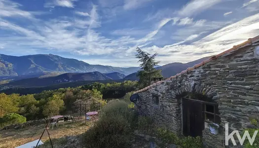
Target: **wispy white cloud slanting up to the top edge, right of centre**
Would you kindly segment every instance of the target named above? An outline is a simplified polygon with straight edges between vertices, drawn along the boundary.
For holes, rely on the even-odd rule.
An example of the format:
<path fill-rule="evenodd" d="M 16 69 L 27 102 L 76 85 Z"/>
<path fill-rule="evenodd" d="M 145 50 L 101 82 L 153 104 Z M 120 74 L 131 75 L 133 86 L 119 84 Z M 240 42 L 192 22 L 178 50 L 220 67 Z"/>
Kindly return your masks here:
<path fill-rule="evenodd" d="M 181 16 L 192 16 L 209 9 L 220 2 L 222 2 L 222 0 L 191 0 L 179 10 L 178 14 Z"/>

